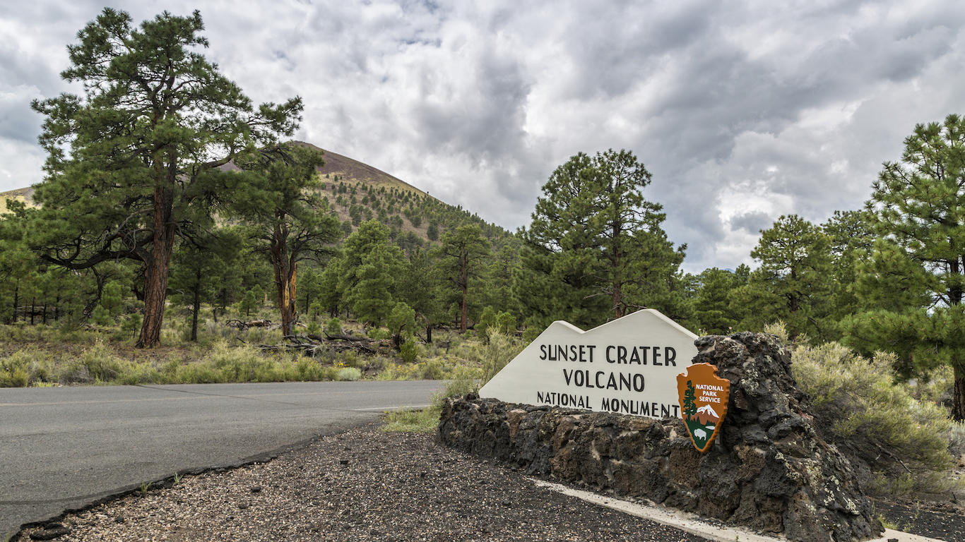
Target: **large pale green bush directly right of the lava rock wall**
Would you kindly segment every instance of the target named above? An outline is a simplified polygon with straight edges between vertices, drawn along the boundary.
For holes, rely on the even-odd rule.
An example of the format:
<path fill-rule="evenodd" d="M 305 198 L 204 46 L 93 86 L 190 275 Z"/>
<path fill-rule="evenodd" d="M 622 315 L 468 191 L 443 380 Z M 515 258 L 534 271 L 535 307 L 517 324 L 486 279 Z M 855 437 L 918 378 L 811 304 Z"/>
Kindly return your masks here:
<path fill-rule="evenodd" d="M 867 489 L 941 489 L 935 474 L 952 465 L 951 420 L 943 407 L 916 400 L 896 384 L 893 355 L 878 353 L 869 362 L 829 342 L 799 345 L 792 356 L 794 377 L 812 398 L 822 436 L 877 474 Z"/>

